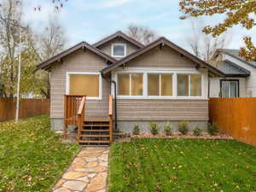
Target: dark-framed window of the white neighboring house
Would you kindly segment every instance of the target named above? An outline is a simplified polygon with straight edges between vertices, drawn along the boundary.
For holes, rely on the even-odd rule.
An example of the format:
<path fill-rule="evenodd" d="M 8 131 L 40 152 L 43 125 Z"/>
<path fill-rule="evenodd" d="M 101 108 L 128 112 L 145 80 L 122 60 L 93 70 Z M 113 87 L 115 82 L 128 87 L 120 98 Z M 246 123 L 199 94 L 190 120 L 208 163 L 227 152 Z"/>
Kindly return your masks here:
<path fill-rule="evenodd" d="M 222 97 L 238 97 L 239 96 L 239 81 L 238 80 L 221 80 L 221 95 Z"/>

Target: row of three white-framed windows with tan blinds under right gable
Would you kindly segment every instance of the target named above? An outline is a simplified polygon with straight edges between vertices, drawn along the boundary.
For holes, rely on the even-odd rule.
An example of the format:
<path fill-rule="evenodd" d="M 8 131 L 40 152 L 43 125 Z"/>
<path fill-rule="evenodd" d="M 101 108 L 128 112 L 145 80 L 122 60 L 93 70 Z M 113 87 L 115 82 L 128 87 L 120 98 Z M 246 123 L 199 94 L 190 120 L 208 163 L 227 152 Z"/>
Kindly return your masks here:
<path fill-rule="evenodd" d="M 171 99 L 171 98 L 201 98 L 203 96 L 203 75 L 181 69 L 180 71 L 165 70 L 151 71 L 139 69 L 138 73 L 133 70 L 113 74 L 117 81 L 117 93 L 119 98 L 148 98 L 148 99 Z M 134 70 L 135 71 L 135 70 Z M 179 73 L 180 72 L 180 73 Z M 184 73 L 185 72 L 185 73 Z M 206 79 L 207 80 L 207 79 Z M 205 94 L 204 96 L 207 96 Z"/>

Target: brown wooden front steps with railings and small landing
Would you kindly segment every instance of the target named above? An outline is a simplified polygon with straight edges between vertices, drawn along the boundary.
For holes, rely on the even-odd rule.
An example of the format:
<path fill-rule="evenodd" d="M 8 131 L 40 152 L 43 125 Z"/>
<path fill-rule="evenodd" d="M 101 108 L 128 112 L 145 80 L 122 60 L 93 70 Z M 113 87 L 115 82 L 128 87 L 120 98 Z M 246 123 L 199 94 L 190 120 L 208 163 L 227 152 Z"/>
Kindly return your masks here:
<path fill-rule="evenodd" d="M 76 134 L 83 145 L 109 145 L 113 142 L 113 96 L 109 96 L 108 116 L 86 116 L 86 96 L 64 95 L 64 130 Z"/>

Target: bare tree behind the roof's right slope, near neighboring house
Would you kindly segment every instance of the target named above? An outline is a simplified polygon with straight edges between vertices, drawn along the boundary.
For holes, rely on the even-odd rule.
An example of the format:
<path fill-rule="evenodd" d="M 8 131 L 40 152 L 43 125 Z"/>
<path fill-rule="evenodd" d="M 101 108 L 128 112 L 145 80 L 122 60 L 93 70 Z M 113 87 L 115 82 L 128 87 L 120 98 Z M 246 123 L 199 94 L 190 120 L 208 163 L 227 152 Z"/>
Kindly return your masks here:
<path fill-rule="evenodd" d="M 191 20 L 191 34 L 186 39 L 186 42 L 189 44 L 194 55 L 209 62 L 215 51 L 227 46 L 230 40 L 227 33 L 223 33 L 216 38 L 213 38 L 212 35 L 205 34 L 202 32 L 204 26 L 203 20 Z"/>

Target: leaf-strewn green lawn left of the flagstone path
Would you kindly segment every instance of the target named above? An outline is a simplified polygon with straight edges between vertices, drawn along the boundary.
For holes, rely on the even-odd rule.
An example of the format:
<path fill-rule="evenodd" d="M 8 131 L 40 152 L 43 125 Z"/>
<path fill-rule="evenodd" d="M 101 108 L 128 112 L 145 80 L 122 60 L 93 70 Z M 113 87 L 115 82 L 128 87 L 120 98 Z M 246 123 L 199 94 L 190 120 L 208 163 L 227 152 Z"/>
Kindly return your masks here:
<path fill-rule="evenodd" d="M 49 116 L 0 123 L 0 191 L 49 191 L 78 150 L 49 130 Z"/>

